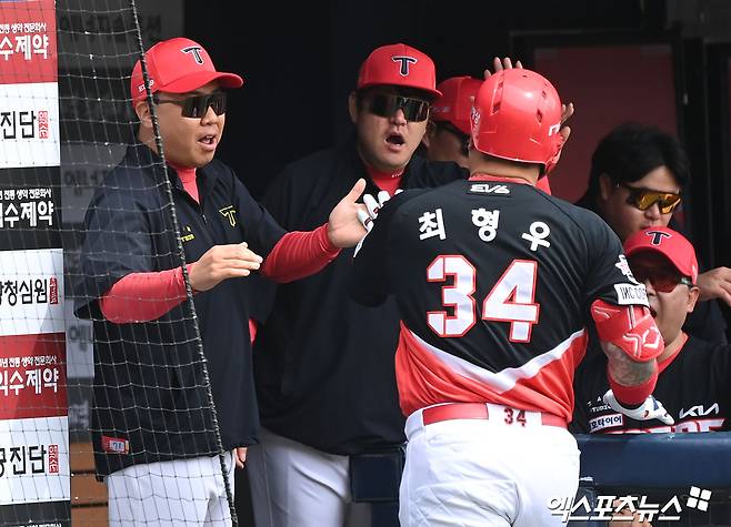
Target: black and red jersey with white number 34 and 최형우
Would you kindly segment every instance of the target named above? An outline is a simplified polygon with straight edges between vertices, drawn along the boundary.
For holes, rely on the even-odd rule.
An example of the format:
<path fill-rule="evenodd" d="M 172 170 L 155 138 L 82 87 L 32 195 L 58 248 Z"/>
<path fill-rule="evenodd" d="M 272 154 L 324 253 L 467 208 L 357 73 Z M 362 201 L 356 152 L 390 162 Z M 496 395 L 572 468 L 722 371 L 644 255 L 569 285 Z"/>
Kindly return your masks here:
<path fill-rule="evenodd" d="M 354 259 L 351 294 L 401 314 L 401 409 L 490 402 L 570 419 L 590 305 L 647 305 L 594 213 L 521 180 L 405 191 Z"/>

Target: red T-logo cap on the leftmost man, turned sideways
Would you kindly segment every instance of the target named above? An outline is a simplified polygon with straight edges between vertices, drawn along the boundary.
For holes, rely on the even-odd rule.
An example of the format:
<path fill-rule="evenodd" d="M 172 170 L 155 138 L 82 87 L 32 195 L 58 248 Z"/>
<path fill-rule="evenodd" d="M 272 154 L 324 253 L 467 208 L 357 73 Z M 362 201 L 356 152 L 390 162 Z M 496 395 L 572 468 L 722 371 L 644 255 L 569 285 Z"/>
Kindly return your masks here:
<path fill-rule="evenodd" d="M 144 59 L 152 93 L 187 93 L 212 81 L 219 81 L 222 88 L 240 88 L 243 84 L 243 79 L 236 73 L 216 71 L 208 51 L 190 39 L 179 37 L 158 42 L 144 53 Z M 133 103 L 147 98 L 139 60 L 132 70 L 130 85 Z"/>

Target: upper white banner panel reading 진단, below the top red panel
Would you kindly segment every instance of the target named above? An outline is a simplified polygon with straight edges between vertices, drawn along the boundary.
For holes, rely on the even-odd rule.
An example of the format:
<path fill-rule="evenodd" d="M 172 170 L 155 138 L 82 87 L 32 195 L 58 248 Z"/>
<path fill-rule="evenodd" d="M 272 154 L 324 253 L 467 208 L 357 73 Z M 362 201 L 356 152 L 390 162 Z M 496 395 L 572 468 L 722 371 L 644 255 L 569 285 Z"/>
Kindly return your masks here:
<path fill-rule="evenodd" d="M 60 165 L 58 84 L 0 84 L 0 169 Z"/>

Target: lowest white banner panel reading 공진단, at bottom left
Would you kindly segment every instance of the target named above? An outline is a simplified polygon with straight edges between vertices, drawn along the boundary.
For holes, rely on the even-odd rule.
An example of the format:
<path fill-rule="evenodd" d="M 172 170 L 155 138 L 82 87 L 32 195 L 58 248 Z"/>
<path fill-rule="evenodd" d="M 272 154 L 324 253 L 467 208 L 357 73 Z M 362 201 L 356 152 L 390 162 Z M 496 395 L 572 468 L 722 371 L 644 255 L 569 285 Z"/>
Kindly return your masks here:
<path fill-rule="evenodd" d="M 67 417 L 0 422 L 0 505 L 70 499 Z"/>

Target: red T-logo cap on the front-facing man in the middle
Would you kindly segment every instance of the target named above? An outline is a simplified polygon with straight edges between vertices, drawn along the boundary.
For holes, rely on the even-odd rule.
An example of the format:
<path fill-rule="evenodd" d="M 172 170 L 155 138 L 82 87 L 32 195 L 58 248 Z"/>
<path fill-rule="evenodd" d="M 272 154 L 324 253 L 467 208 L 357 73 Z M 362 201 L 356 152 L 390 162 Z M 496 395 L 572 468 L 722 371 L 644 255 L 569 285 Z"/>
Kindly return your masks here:
<path fill-rule="evenodd" d="M 437 70 L 429 55 L 407 44 L 389 44 L 374 49 L 360 67 L 358 89 L 397 85 L 423 90 L 441 97 L 437 90 Z"/>

